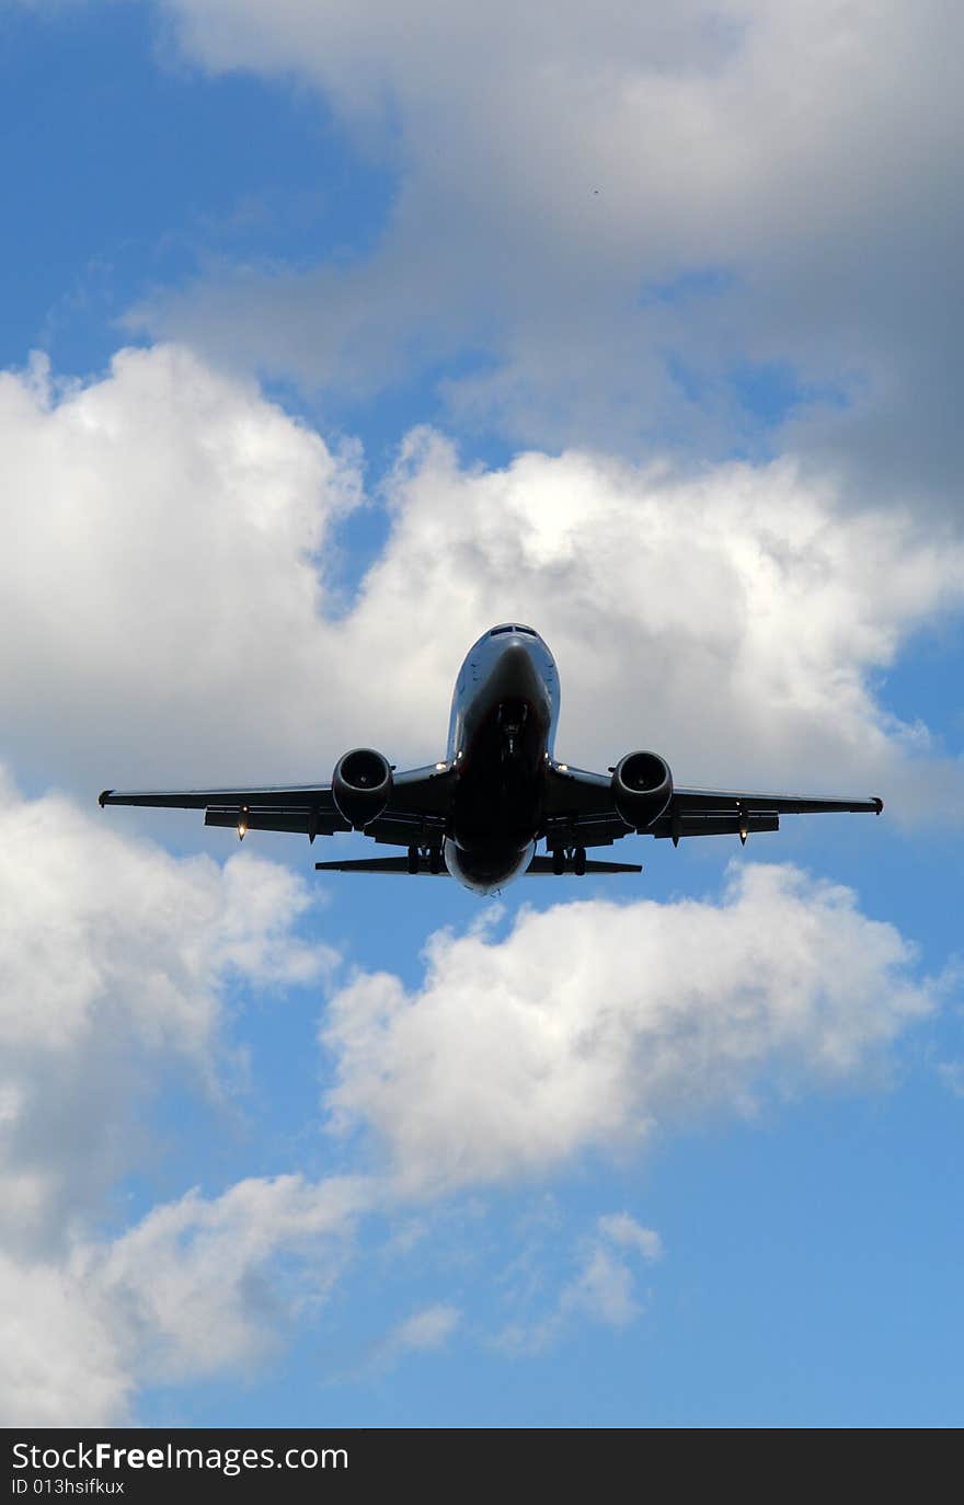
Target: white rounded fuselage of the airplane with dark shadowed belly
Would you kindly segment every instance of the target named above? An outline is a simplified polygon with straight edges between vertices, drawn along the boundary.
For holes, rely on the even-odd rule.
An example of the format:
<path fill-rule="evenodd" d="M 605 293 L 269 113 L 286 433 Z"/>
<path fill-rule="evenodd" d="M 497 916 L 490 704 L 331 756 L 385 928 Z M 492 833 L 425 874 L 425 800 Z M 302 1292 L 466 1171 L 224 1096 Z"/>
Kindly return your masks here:
<path fill-rule="evenodd" d="M 559 674 L 539 634 L 506 623 L 480 637 L 455 683 L 447 746 L 444 859 L 467 888 L 493 892 L 529 867 L 557 721 Z"/>

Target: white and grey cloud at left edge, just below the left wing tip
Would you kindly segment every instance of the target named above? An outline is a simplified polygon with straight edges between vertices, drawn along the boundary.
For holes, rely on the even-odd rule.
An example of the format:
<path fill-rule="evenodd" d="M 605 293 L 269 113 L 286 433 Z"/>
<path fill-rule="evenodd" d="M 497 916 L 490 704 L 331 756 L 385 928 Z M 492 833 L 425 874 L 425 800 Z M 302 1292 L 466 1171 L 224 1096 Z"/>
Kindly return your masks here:
<path fill-rule="evenodd" d="M 175 859 L 59 795 L 0 799 L 0 1228 L 57 1249 L 143 1150 L 145 1102 L 176 1067 L 205 1090 L 232 1060 L 230 981 L 330 963 L 294 926 L 300 879 L 250 853 Z"/>

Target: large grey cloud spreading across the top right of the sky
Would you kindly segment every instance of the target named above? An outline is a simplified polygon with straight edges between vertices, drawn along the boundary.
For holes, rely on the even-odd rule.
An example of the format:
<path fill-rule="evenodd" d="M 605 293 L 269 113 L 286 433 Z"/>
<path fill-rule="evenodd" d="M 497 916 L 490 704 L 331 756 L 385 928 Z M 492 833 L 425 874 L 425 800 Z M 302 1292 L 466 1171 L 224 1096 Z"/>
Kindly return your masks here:
<path fill-rule="evenodd" d="M 624 451 L 759 442 L 746 378 L 776 363 L 859 491 L 956 498 L 943 0 L 167 9 L 211 71 L 307 78 L 398 193 L 368 260 L 221 269 L 154 330 L 358 391 L 459 355 L 461 421 Z"/>

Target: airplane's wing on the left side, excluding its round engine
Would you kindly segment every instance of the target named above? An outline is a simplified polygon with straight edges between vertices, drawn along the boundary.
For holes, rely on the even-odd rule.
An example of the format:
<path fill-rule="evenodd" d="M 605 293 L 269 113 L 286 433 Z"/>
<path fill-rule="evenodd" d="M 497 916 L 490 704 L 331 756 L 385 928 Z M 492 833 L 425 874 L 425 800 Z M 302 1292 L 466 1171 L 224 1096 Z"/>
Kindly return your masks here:
<path fill-rule="evenodd" d="M 384 813 L 366 826 L 377 841 L 399 846 L 440 840 L 450 793 L 450 771 L 413 768 L 396 774 Z M 351 831 L 334 804 L 330 784 L 262 784 L 249 789 L 105 789 L 104 805 L 203 810 L 206 826 L 246 831 L 295 831 L 310 841 Z"/>

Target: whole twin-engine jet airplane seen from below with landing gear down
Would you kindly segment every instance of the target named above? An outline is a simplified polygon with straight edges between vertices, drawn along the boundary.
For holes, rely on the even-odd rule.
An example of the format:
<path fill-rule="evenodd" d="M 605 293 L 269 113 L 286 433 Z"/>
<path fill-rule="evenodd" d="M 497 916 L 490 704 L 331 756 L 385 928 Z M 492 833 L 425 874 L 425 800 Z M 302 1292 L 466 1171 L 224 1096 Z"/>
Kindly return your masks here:
<path fill-rule="evenodd" d="M 362 831 L 404 856 L 316 862 L 319 871 L 450 874 L 476 894 L 520 876 L 642 873 L 596 861 L 637 832 L 667 838 L 777 831 L 782 814 L 875 811 L 883 799 L 676 789 L 666 759 L 627 752 L 607 774 L 557 762 L 559 674 L 533 628 L 503 622 L 471 646 L 455 683 L 444 759 L 396 772 L 374 748 L 352 748 L 330 784 L 261 789 L 117 790 L 99 805 L 203 810 L 206 826 L 295 831 L 315 841 Z M 536 855 L 536 843 L 545 855 Z"/>

